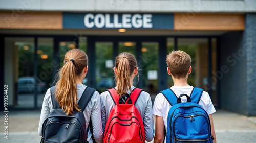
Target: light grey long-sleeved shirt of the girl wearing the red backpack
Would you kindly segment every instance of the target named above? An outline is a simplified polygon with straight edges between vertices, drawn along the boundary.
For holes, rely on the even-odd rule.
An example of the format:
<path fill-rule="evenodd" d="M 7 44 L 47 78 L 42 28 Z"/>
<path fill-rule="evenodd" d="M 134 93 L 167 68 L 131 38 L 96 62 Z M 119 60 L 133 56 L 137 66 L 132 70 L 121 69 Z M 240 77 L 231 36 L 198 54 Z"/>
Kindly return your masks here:
<path fill-rule="evenodd" d="M 131 86 L 132 90 L 135 88 Z M 129 90 L 128 94 L 131 93 Z M 102 118 L 102 126 L 103 131 L 105 130 L 106 121 L 108 120 L 109 114 L 111 110 L 114 108 L 115 103 L 111 98 L 108 91 L 105 91 L 100 94 L 101 100 L 101 118 Z M 135 107 L 138 109 L 141 118 L 144 123 L 145 129 L 145 140 L 150 142 L 154 137 L 154 123 L 153 123 L 153 116 L 152 116 L 152 102 L 150 98 L 150 94 L 145 91 L 142 91 L 137 102 L 135 103 Z"/>

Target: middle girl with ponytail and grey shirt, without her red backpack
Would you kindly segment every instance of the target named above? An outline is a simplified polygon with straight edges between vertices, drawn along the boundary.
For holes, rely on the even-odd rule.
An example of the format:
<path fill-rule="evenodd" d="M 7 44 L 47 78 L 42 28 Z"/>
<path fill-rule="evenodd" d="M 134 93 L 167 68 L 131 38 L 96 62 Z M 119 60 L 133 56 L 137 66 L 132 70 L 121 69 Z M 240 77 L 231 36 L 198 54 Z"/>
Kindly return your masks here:
<path fill-rule="evenodd" d="M 138 67 L 135 57 L 131 53 L 120 53 L 115 61 L 115 82 L 116 96 L 131 94 L 135 89 L 133 79 L 138 76 Z M 114 95 L 115 96 L 115 95 Z M 101 118 L 103 131 L 105 131 L 106 123 L 111 110 L 116 105 L 113 101 L 110 92 L 105 91 L 100 95 L 101 100 Z M 154 137 L 154 123 L 152 116 L 152 102 L 150 94 L 142 91 L 135 103 L 144 124 L 145 140 L 150 142 Z"/>

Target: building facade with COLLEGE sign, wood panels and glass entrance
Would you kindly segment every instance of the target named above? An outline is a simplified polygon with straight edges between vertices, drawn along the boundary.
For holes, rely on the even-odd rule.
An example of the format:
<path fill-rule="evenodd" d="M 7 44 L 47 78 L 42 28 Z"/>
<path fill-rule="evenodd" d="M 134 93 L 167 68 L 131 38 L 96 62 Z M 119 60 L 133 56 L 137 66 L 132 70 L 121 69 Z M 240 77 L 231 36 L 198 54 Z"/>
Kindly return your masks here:
<path fill-rule="evenodd" d="M 65 53 L 79 48 L 89 57 L 84 84 L 113 87 L 115 57 L 130 52 L 141 69 L 134 85 L 154 99 L 173 85 L 166 54 L 183 50 L 190 85 L 217 108 L 255 116 L 255 26 L 253 0 L 0 1 L 1 92 L 8 85 L 11 108 L 40 107 Z"/>

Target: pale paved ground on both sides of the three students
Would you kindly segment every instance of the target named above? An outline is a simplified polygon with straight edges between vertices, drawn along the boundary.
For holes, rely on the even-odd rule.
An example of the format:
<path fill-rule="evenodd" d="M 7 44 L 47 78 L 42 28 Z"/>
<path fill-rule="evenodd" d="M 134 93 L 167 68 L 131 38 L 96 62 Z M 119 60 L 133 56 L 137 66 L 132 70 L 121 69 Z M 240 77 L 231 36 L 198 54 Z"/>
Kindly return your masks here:
<path fill-rule="evenodd" d="M 2 112 L 4 115 L 4 113 Z M 8 139 L 4 138 L 4 120 L 0 117 L 0 142 L 39 142 L 37 133 L 40 111 L 10 111 Z M 256 142 L 256 117 L 218 110 L 214 113 L 217 142 Z"/>

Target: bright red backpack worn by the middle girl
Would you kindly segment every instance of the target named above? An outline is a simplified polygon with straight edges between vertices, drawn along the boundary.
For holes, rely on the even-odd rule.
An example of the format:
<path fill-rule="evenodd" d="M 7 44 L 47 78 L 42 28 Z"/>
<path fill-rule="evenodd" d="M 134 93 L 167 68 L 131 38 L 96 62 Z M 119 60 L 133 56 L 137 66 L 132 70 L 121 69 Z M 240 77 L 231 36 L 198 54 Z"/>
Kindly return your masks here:
<path fill-rule="evenodd" d="M 135 88 L 132 94 L 118 96 L 114 88 L 108 89 L 116 106 L 111 110 L 104 132 L 104 143 L 144 143 L 145 132 L 142 118 L 134 106 L 142 89 Z M 124 97 L 127 97 L 123 103 Z M 123 98 L 123 99 L 122 99 Z"/>

